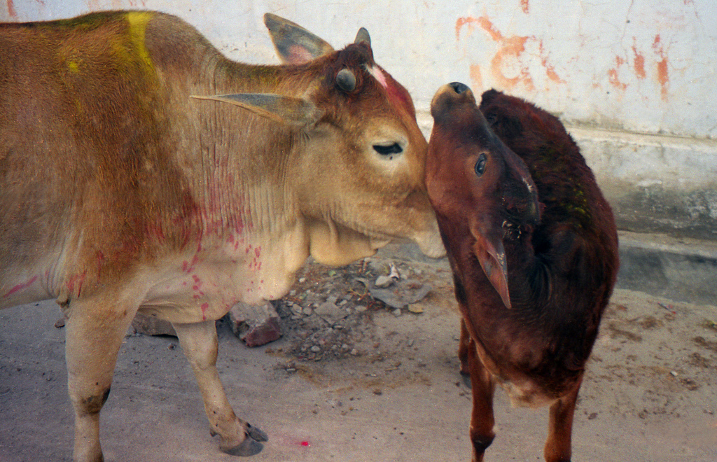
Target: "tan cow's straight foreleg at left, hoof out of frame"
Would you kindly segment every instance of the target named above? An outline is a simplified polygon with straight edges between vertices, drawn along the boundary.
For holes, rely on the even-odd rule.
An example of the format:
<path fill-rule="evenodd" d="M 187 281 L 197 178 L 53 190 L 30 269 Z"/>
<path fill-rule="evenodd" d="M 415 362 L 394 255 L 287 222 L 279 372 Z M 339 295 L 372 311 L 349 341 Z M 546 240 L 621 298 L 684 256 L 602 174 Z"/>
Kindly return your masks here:
<path fill-rule="evenodd" d="M 100 410 L 110 394 L 117 353 L 131 310 L 73 301 L 67 309 L 67 389 L 75 408 L 75 462 L 103 461 Z"/>

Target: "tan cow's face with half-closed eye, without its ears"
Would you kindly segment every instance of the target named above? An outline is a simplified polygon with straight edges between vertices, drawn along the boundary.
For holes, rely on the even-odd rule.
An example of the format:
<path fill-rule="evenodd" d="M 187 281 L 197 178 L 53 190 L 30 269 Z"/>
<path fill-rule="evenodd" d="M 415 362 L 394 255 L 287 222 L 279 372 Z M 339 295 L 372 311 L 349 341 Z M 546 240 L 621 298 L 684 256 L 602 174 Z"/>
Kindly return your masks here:
<path fill-rule="evenodd" d="M 320 66 L 326 70 L 308 99 L 322 116 L 305 127 L 293 177 L 302 211 L 313 221 L 312 255 L 341 263 L 395 236 L 442 254 L 424 188 L 427 143 L 408 92 L 373 62 L 365 42 Z M 356 255 L 346 254 L 350 246 L 357 246 Z"/>

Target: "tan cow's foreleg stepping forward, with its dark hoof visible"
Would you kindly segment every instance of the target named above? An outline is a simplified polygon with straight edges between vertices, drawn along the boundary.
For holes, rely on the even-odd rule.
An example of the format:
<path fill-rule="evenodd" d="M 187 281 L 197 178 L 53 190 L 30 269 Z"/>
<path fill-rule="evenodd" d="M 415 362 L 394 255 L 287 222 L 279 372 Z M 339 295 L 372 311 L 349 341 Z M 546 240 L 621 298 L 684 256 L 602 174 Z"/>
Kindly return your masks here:
<path fill-rule="evenodd" d="M 237 418 L 219 380 L 214 321 L 174 324 L 174 330 L 194 370 L 212 435 L 222 438 L 219 448 L 233 456 L 253 456 L 261 451 L 263 446 L 258 441 L 267 441 L 266 433 Z"/>

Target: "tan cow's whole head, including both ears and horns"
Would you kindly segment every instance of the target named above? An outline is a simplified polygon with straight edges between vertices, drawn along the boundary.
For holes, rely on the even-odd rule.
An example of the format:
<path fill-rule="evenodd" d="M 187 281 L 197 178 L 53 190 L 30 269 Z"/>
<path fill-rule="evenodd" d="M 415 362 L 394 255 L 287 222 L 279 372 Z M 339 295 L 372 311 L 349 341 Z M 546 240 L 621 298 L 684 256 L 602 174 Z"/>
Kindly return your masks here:
<path fill-rule="evenodd" d="M 209 97 L 290 126 L 290 191 L 308 223 L 311 255 L 346 264 L 394 237 L 441 256 L 424 186 L 427 143 L 407 90 L 381 69 L 368 32 L 341 51 L 296 24 L 267 14 L 287 66 L 280 95 Z M 292 127 L 293 126 L 293 127 Z"/>

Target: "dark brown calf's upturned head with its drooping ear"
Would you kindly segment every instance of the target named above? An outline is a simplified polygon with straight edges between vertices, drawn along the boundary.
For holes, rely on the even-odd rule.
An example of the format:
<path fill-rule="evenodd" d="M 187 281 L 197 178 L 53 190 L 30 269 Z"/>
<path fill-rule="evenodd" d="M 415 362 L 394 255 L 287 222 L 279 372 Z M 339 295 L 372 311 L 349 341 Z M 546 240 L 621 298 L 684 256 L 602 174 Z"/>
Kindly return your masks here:
<path fill-rule="evenodd" d="M 448 251 L 470 252 L 459 258 L 478 261 L 511 307 L 503 242 L 538 223 L 536 186 L 523 160 L 490 130 L 468 87 L 441 87 L 431 114 L 426 184 Z"/>

